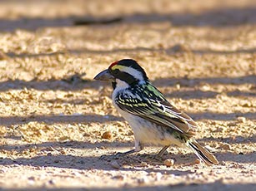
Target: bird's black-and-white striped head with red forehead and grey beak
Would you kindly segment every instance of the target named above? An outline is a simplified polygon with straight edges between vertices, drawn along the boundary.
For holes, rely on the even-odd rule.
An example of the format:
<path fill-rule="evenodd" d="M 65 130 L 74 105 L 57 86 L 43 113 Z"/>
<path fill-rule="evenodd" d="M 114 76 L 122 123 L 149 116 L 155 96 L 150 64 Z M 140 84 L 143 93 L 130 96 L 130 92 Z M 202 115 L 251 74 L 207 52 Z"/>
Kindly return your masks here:
<path fill-rule="evenodd" d="M 112 81 L 113 88 L 116 86 L 127 85 L 134 86 L 139 83 L 148 81 L 148 76 L 137 61 L 132 59 L 123 59 L 113 62 L 108 69 L 101 71 L 94 80 Z"/>

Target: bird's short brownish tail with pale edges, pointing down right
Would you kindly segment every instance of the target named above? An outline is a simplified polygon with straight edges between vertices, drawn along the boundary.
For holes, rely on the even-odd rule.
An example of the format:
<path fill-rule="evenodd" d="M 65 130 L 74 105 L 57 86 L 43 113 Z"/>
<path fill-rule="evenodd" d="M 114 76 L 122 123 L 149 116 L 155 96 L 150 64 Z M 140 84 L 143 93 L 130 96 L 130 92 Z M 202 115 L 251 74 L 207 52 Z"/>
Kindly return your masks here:
<path fill-rule="evenodd" d="M 196 140 L 188 140 L 188 147 L 193 150 L 194 154 L 207 165 L 218 164 L 218 159 L 215 158 L 207 149 L 198 144 Z"/>

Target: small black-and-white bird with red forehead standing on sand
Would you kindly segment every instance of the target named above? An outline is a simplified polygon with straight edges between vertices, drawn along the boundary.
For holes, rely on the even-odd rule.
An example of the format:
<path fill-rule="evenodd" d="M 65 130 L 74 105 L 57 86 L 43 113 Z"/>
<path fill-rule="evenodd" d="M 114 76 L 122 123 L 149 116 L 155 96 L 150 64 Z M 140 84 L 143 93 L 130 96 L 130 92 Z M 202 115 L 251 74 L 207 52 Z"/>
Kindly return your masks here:
<path fill-rule="evenodd" d="M 153 86 L 137 61 L 114 61 L 94 80 L 111 82 L 113 105 L 133 130 L 135 147 L 123 154 L 138 153 L 145 144 L 153 144 L 163 147 L 157 154 L 161 158 L 175 144 L 192 150 L 204 164 L 218 164 L 218 159 L 194 139 L 195 121 Z"/>

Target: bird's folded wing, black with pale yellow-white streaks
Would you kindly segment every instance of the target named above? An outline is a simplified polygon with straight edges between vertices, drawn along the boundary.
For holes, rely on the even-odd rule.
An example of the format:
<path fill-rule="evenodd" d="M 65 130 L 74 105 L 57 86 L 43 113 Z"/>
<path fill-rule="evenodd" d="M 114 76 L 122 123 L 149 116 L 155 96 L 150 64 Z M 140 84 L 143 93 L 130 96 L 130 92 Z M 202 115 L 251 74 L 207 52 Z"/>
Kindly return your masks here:
<path fill-rule="evenodd" d="M 128 113 L 188 136 L 194 135 L 196 124 L 191 117 L 171 105 L 154 86 L 149 84 L 142 90 L 123 91 L 114 101 Z"/>

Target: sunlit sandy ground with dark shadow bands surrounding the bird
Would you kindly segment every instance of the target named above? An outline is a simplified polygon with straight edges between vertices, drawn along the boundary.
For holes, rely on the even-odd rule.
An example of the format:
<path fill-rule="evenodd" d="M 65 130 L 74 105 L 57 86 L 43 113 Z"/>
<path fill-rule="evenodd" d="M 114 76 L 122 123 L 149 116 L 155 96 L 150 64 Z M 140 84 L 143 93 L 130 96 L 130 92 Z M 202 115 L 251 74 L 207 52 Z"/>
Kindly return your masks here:
<path fill-rule="evenodd" d="M 255 1 L 1 1 L 0 30 L 1 190 L 255 190 Z M 220 164 L 175 146 L 114 156 L 133 131 L 93 76 L 122 58 Z"/>

